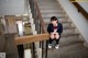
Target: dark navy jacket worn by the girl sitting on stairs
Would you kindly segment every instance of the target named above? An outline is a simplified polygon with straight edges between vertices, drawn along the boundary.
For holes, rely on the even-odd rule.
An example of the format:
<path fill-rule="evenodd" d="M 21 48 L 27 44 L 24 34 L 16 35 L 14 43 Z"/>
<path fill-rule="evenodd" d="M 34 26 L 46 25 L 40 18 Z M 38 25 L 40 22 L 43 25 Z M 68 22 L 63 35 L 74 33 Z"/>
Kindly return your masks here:
<path fill-rule="evenodd" d="M 52 23 L 48 24 L 48 26 L 47 26 L 47 32 L 48 32 L 48 33 L 54 32 L 54 27 L 53 27 L 53 24 L 52 24 Z M 63 33 L 63 25 L 62 25 L 61 23 L 58 23 L 58 25 L 57 25 L 57 33 L 58 33 L 59 35 Z"/>

